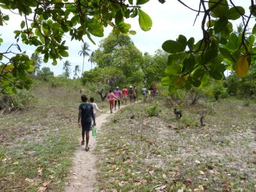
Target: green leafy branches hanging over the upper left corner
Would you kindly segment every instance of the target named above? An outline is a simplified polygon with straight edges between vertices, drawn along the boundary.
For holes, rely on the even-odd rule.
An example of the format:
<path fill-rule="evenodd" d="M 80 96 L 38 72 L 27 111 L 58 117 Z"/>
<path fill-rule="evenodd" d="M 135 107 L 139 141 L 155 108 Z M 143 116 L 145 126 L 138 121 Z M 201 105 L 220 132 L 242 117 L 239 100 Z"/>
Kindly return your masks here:
<path fill-rule="evenodd" d="M 0 25 L 4 26 L 9 16 L 3 9 L 11 13 L 19 13 L 24 18 L 21 29 L 15 29 L 17 42 L 35 45 L 36 53 L 44 56 L 44 62 L 68 56 L 63 35 L 69 33 L 71 39 L 82 40 L 87 36 L 92 42 L 92 36 L 104 36 L 104 28 L 112 26 L 116 33 L 131 33 L 131 25 L 124 18 L 138 15 L 141 29 L 148 31 L 152 20 L 140 8 L 147 1 L 138 0 L 132 4 L 115 0 L 1 0 Z M 0 39 L 0 44 L 3 39 Z M 13 45 L 11 45 L 13 46 Z M 19 45 L 16 45 L 19 49 Z M 11 52 L 10 48 L 0 53 L 0 60 L 5 58 L 0 66 L 0 88 L 4 92 L 15 92 L 15 88 L 29 88 L 32 83 L 28 72 L 33 71 L 33 61 L 20 52 Z"/>

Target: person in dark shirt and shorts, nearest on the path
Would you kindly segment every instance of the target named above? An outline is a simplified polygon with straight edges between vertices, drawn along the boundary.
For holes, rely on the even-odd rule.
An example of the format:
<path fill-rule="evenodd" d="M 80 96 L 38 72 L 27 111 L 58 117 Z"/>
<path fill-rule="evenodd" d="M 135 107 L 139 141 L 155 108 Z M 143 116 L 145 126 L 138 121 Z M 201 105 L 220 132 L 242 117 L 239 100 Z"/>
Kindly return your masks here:
<path fill-rule="evenodd" d="M 95 116 L 93 113 L 93 106 L 89 102 L 87 102 L 88 97 L 86 95 L 81 96 L 82 103 L 79 105 L 79 113 L 78 113 L 78 126 L 82 127 L 82 141 L 81 144 L 84 145 L 84 133 L 86 135 L 86 147 L 85 150 L 88 151 L 90 148 L 88 147 L 89 143 L 89 133 L 92 125 L 96 125 Z"/>

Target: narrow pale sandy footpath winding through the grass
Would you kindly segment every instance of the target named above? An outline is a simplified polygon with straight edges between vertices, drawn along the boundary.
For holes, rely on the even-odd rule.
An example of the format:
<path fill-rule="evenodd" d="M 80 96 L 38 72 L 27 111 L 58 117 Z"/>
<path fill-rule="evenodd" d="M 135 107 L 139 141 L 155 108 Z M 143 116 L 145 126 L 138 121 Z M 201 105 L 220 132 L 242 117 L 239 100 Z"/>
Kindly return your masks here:
<path fill-rule="evenodd" d="M 128 105 L 127 105 L 128 106 Z M 125 107 L 125 106 L 122 106 Z M 118 110 L 113 111 L 116 113 Z M 99 131 L 102 124 L 107 122 L 107 117 L 109 110 L 106 113 L 102 113 L 97 116 L 97 131 Z M 81 142 L 81 136 L 79 136 L 79 142 Z M 92 137 L 92 132 L 90 132 L 89 147 L 90 151 L 85 152 L 84 146 L 77 147 L 75 152 L 75 157 L 72 159 L 72 172 L 68 176 L 68 185 L 65 191 L 93 191 L 93 185 L 96 182 L 97 169 L 95 167 L 96 157 L 92 154 L 95 149 L 96 139 Z"/>

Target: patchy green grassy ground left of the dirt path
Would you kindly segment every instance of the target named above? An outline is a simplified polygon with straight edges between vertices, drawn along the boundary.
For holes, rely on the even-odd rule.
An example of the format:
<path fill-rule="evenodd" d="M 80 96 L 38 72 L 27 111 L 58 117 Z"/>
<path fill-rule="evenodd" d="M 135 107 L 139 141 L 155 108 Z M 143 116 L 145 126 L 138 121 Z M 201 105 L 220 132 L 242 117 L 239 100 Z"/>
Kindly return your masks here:
<path fill-rule="evenodd" d="M 0 116 L 0 191 L 63 191 L 67 182 L 81 93 L 46 84 L 33 95 L 29 108 Z"/>

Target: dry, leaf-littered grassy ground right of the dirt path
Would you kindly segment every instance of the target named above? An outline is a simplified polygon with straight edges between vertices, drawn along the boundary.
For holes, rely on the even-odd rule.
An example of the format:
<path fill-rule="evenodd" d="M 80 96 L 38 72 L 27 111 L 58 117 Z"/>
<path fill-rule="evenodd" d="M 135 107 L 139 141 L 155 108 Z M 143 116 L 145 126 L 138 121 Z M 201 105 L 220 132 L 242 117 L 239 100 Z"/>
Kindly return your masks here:
<path fill-rule="evenodd" d="M 102 127 L 99 191 L 255 191 L 255 104 L 184 107 L 180 120 L 164 100 L 159 116 L 145 114 L 147 105 L 124 108 Z M 202 110 L 209 112 L 205 127 Z"/>

